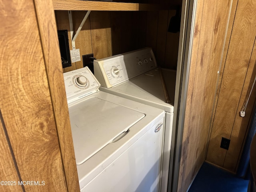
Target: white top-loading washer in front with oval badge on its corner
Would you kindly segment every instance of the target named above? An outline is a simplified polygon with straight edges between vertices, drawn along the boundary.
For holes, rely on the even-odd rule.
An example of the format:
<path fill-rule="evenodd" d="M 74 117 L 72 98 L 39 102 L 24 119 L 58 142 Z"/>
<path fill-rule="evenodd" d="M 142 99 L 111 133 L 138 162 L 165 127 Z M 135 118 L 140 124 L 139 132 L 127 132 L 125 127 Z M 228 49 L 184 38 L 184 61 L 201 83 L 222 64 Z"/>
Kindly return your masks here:
<path fill-rule="evenodd" d="M 100 91 L 87 67 L 64 82 L 80 190 L 158 192 L 164 111 Z"/>

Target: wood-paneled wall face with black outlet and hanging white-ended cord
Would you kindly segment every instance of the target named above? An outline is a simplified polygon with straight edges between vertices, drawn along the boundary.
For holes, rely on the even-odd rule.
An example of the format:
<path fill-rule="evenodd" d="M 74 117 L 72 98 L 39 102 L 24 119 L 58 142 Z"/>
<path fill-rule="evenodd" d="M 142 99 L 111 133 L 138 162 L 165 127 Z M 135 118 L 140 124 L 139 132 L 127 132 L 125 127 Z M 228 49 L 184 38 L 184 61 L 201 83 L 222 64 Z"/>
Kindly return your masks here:
<path fill-rule="evenodd" d="M 256 75 L 256 2 L 238 0 L 232 23 L 223 76 L 220 79 L 207 161 L 236 172 L 249 125 L 256 90 L 252 91 L 246 116 L 239 115 Z M 230 139 L 228 150 L 220 148 L 222 137 Z"/>

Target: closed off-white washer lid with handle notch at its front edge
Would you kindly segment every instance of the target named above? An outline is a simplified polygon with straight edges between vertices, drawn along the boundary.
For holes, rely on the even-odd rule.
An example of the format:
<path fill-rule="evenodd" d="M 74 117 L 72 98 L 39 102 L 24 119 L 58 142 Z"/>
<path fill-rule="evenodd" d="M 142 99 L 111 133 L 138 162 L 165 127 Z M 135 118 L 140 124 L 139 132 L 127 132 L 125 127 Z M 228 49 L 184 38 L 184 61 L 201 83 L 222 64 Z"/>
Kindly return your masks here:
<path fill-rule="evenodd" d="M 70 106 L 69 113 L 77 165 L 145 116 L 141 112 L 96 97 Z"/>

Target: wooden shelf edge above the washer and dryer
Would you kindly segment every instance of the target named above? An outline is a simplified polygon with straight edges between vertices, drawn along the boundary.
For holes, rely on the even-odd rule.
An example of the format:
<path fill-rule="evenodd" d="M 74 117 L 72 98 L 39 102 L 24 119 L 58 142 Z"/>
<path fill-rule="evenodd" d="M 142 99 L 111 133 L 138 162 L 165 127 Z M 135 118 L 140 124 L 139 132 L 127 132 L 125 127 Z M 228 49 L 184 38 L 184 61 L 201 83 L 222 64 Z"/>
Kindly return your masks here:
<path fill-rule="evenodd" d="M 92 11 L 156 11 L 170 10 L 171 6 L 144 3 L 120 3 L 84 0 L 52 0 L 54 10 L 92 10 Z"/>

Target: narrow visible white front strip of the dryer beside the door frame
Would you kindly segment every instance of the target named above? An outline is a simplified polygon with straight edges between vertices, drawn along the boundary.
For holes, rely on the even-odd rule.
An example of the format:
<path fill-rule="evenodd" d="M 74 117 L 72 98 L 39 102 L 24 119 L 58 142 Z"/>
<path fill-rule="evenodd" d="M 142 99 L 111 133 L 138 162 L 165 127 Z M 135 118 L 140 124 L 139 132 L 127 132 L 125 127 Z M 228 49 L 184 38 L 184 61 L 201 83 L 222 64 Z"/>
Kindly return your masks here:
<path fill-rule="evenodd" d="M 166 112 L 165 127 L 164 127 L 164 155 L 163 155 L 163 166 L 162 166 L 161 191 L 167 191 L 167 186 L 168 186 L 170 158 L 172 158 L 170 157 L 171 142 L 172 142 L 172 121 L 173 121 L 173 113 Z"/>

